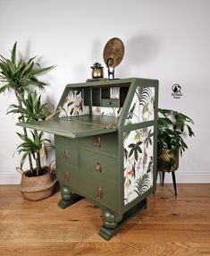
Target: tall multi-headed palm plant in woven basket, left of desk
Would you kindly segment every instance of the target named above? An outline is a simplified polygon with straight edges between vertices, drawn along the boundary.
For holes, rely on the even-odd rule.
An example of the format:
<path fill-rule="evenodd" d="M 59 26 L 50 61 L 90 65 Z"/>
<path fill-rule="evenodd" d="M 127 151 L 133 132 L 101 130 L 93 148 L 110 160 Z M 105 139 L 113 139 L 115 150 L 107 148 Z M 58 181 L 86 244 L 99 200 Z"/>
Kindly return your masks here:
<path fill-rule="evenodd" d="M 0 94 L 5 90 L 13 91 L 17 104 L 9 107 L 7 114 L 18 115 L 19 122 L 37 121 L 45 119 L 46 104 L 41 104 L 40 96 L 34 88 L 44 89 L 46 83 L 39 81 L 37 75 L 52 68 L 41 68 L 35 64 L 36 57 L 28 62 L 16 61 L 16 46 L 14 44 L 11 59 L 0 55 L 0 81 L 4 83 L 0 87 Z M 17 132 L 21 139 L 21 145 L 17 151 L 21 156 L 21 165 L 17 168 L 21 172 L 20 190 L 28 200 L 44 199 L 54 192 L 55 178 L 50 173 L 48 166 L 41 166 L 41 156 L 46 156 L 46 147 L 51 146 L 49 140 L 44 139 L 43 132 L 29 131 L 23 128 L 23 134 Z M 22 166 L 29 159 L 29 170 L 22 171 Z M 33 166 L 33 160 L 35 166 Z"/>

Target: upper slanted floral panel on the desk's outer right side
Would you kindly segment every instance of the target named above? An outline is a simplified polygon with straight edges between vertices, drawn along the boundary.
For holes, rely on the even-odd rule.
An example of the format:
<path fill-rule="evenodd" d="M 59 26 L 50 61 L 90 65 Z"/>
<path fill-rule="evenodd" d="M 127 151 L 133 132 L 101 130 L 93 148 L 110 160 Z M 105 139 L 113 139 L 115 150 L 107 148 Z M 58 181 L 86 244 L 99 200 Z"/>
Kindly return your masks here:
<path fill-rule="evenodd" d="M 125 125 L 154 120 L 155 88 L 138 87 L 133 96 Z"/>

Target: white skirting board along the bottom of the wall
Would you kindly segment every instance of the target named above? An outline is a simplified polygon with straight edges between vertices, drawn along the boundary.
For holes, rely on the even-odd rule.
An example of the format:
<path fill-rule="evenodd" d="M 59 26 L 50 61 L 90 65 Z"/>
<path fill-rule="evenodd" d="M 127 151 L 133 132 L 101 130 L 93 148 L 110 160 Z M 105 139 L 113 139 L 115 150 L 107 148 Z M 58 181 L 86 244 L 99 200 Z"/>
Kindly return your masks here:
<path fill-rule="evenodd" d="M 176 183 L 210 183 L 210 170 L 208 171 L 176 171 Z M 20 174 L 0 173 L 0 184 L 19 184 L 21 182 Z M 160 176 L 157 177 L 157 183 L 160 183 Z M 172 173 L 165 173 L 164 183 L 172 183 Z"/>

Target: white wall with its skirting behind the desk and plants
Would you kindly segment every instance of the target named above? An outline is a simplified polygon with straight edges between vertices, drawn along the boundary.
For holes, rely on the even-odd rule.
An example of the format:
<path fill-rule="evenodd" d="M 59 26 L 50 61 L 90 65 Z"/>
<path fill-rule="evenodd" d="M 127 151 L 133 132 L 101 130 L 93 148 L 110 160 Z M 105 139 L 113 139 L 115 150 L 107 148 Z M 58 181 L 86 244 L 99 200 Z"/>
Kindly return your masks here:
<path fill-rule="evenodd" d="M 50 83 L 44 98 L 56 106 L 67 83 L 86 81 L 91 64 L 104 64 L 105 43 L 122 38 L 125 55 L 116 77 L 158 79 L 159 107 L 195 121 L 196 137 L 187 139 L 177 182 L 209 183 L 209 10 L 209 0 L 0 0 L 0 54 L 9 57 L 17 40 L 19 55 L 55 64 L 42 79 Z M 181 84 L 180 99 L 172 98 L 173 83 Z M 13 152 L 20 142 L 15 132 L 21 129 L 13 115 L 5 115 L 13 103 L 12 94 L 0 96 L 0 183 L 20 180 Z"/>

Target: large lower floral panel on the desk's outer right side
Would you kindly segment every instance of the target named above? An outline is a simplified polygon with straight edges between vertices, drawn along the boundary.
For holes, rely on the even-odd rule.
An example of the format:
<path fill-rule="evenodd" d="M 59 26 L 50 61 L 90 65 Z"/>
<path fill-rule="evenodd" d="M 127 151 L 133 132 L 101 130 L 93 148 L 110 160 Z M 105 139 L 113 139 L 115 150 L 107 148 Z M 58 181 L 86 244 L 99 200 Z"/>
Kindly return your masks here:
<path fill-rule="evenodd" d="M 124 205 L 153 186 L 154 127 L 124 132 Z"/>

